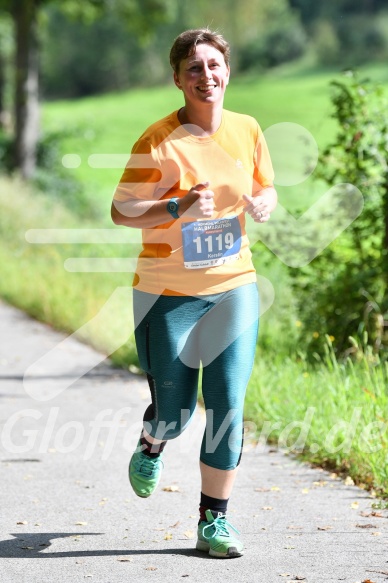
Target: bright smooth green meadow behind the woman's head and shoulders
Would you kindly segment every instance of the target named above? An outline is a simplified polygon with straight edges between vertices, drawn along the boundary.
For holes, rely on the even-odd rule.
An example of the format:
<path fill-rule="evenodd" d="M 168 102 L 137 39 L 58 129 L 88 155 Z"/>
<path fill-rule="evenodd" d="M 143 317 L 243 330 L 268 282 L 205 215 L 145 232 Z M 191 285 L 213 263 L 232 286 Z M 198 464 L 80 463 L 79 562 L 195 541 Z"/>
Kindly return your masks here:
<path fill-rule="evenodd" d="M 386 67 L 381 64 L 365 67 L 363 73 L 388 85 Z M 335 132 L 334 120 L 330 118 L 329 83 L 339 77 L 338 71 L 315 71 L 299 65 L 278 68 L 262 76 L 232 77 L 225 107 L 252 115 L 264 131 L 274 124 L 299 124 L 311 133 L 319 147 L 323 147 Z M 89 156 L 121 154 L 124 159 L 129 157 L 133 143 L 145 128 L 182 104 L 182 95 L 172 81 L 166 87 L 44 104 L 45 130 L 65 129 L 73 134 L 64 140 L 64 153 L 79 156 L 80 165 L 69 172 L 82 181 L 85 191 L 100 210 L 102 221 L 110 223 L 112 192 L 122 169 L 91 168 Z M 281 162 L 287 164 L 284 158 Z M 294 186 L 278 186 L 278 193 L 281 203 L 297 212 L 308 208 L 320 196 L 322 186 L 311 177 Z"/>

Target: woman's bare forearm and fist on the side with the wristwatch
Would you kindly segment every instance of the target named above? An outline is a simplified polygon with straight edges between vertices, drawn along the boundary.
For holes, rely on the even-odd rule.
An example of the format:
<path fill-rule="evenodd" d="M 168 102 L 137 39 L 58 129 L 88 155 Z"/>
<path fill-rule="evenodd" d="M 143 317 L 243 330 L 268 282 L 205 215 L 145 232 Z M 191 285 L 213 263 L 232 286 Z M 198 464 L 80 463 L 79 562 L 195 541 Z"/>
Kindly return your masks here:
<path fill-rule="evenodd" d="M 209 183 L 202 182 L 193 186 L 179 199 L 179 217 L 203 219 L 210 218 L 214 211 L 214 192 L 208 189 Z M 111 216 L 116 225 L 138 229 L 152 229 L 172 220 L 167 210 L 168 199 L 163 200 L 113 200 Z"/>

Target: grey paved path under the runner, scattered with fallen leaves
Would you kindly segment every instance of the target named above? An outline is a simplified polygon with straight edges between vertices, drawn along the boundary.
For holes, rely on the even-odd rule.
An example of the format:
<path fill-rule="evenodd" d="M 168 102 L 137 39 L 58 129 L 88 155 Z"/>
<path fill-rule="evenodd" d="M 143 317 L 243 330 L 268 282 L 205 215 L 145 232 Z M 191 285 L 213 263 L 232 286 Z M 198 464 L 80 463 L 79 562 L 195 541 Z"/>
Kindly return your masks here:
<path fill-rule="evenodd" d="M 244 453 L 230 501 L 244 557 L 197 552 L 203 414 L 166 448 L 158 491 L 137 498 L 127 463 L 145 380 L 4 304 L 0 323 L 1 583 L 388 580 L 388 513 L 268 448 Z"/>

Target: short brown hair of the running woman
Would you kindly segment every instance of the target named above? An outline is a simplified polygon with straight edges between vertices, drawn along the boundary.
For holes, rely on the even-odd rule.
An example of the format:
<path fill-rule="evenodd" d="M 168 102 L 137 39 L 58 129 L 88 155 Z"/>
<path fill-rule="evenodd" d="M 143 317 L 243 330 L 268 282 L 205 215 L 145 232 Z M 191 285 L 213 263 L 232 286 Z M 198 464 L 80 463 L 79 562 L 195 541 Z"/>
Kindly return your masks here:
<path fill-rule="evenodd" d="M 196 46 L 208 44 L 223 54 L 225 63 L 229 66 L 230 46 L 221 34 L 208 28 L 185 30 L 174 41 L 170 51 L 170 64 L 175 73 L 179 72 L 181 61 L 195 53 Z"/>

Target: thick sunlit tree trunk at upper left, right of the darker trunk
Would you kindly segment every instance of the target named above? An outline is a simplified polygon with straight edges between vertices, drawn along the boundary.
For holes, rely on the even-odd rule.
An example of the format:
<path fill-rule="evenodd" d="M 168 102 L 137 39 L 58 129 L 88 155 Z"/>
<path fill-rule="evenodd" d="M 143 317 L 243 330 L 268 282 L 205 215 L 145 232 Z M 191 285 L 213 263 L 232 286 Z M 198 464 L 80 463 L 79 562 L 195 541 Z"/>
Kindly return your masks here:
<path fill-rule="evenodd" d="M 18 0 L 13 19 L 16 38 L 15 162 L 23 178 L 36 167 L 39 137 L 37 13 L 39 0 Z"/>

